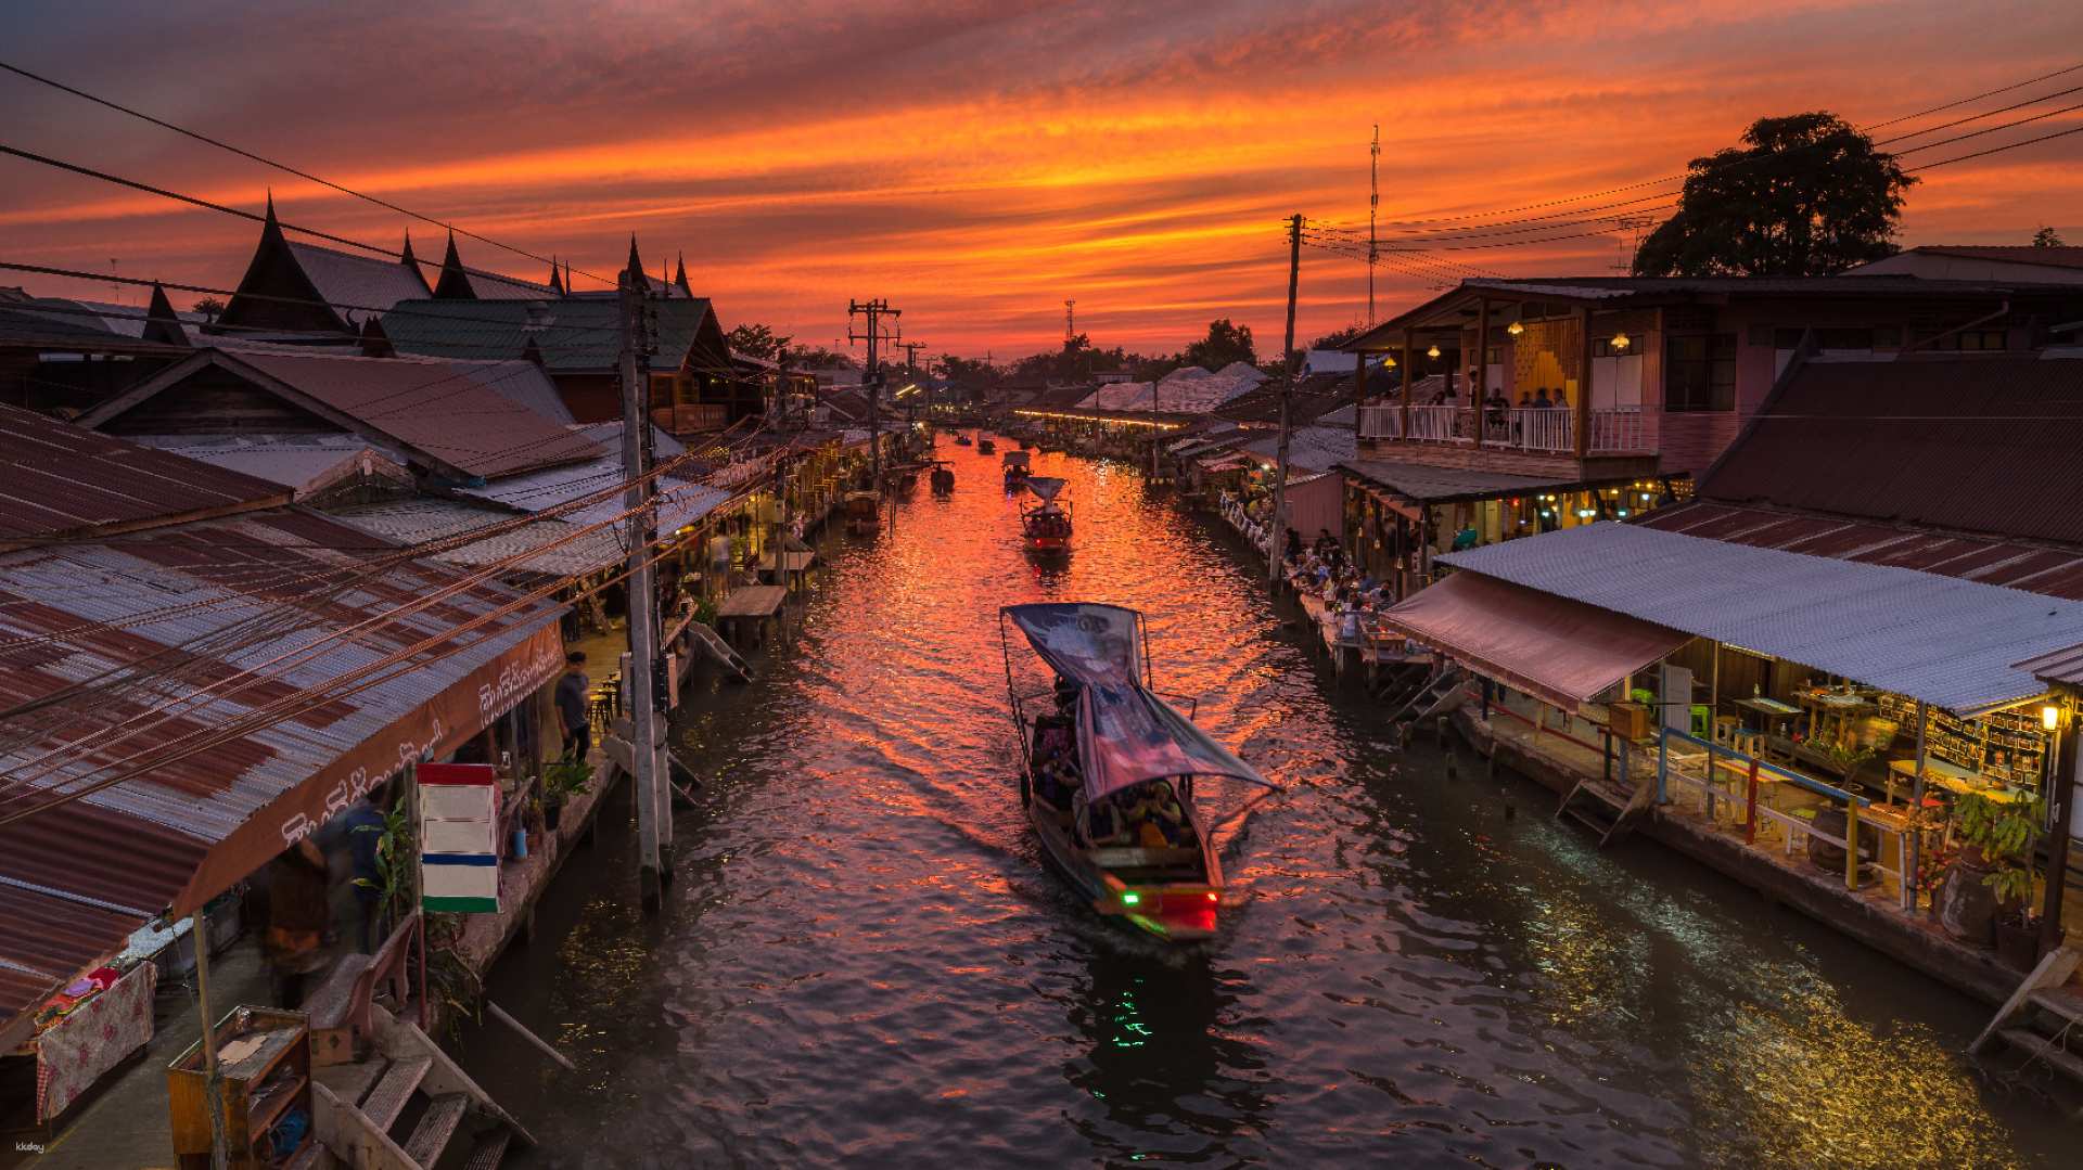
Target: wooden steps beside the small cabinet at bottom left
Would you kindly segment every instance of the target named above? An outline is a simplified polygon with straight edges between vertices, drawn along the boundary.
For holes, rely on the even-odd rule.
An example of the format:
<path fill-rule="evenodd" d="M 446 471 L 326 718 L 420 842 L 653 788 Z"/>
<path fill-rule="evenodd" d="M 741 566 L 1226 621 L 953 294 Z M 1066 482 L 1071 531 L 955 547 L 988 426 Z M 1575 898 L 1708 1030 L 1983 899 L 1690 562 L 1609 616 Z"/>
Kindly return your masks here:
<path fill-rule="evenodd" d="M 317 1070 L 319 1143 L 354 1170 L 498 1170 L 506 1149 L 535 1139 L 456 1066 L 442 1045 L 381 1006 L 371 1051 Z"/>

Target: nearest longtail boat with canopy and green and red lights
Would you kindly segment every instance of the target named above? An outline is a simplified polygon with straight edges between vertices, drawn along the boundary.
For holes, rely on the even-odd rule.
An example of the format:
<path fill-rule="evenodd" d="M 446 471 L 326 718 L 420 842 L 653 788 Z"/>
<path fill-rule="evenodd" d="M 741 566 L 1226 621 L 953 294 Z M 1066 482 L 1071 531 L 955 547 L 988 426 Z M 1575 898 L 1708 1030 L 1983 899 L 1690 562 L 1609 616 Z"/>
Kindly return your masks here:
<path fill-rule="evenodd" d="M 1056 672 L 1052 689 L 1021 693 L 1008 620 Z M 1275 785 L 1150 691 L 1139 612 L 1094 602 L 1004 606 L 998 635 L 1021 737 L 1021 806 L 1042 854 L 1104 916 L 1166 941 L 1214 935 L 1223 864 L 1194 783 Z"/>

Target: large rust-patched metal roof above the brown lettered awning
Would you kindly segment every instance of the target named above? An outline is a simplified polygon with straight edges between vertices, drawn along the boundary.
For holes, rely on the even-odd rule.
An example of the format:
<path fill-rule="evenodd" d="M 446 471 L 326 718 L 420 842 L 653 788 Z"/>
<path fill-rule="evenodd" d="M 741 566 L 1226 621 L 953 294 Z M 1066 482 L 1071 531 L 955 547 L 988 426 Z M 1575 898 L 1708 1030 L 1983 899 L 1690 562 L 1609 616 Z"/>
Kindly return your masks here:
<path fill-rule="evenodd" d="M 265 864 L 285 845 L 277 820 L 287 824 L 290 812 L 335 812 L 329 795 L 304 791 L 308 783 L 371 749 L 396 766 L 390 739 L 435 700 L 473 687 L 471 718 L 504 710 L 504 691 L 490 691 L 487 706 L 477 675 L 517 647 L 533 654 L 544 643 L 554 675 L 556 606 L 456 633 L 515 600 L 475 585 L 396 616 L 460 573 L 427 560 L 385 568 L 371 560 L 381 543 L 327 516 L 269 508 L 0 554 L 0 710 L 56 697 L 0 720 L 4 812 L 433 639 L 417 664 L 367 689 L 0 824 L 0 1022 L 169 906 Z M 337 637 L 350 627 L 362 629 Z M 454 654 L 431 658 L 444 650 Z M 75 683 L 94 689 L 67 695 Z M 515 697 L 531 683 L 517 675 Z M 471 718 L 450 731 L 475 733 L 481 720 L 462 727 Z M 110 733 L 129 737 L 81 745 Z"/>

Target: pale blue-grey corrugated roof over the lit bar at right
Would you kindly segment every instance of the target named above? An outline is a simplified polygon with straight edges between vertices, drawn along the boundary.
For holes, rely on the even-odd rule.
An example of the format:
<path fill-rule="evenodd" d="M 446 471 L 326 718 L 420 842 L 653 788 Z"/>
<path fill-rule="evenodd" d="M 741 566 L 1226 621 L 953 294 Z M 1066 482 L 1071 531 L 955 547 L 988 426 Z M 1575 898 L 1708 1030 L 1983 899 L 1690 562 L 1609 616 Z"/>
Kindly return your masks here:
<path fill-rule="evenodd" d="M 2043 693 L 2014 664 L 2083 643 L 2083 602 L 1639 525 L 1439 560 L 1962 714 Z"/>

